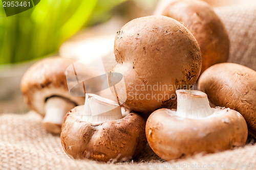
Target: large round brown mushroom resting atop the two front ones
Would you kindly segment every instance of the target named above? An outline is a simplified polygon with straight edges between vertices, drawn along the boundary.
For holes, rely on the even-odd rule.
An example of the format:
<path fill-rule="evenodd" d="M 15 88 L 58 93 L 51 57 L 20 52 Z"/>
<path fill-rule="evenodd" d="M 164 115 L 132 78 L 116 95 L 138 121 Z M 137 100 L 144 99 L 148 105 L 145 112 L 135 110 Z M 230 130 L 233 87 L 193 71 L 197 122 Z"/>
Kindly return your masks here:
<path fill-rule="evenodd" d="M 117 85 L 117 93 L 126 92 L 123 105 L 139 113 L 176 107 L 175 90 L 193 85 L 201 70 L 196 39 L 180 22 L 166 16 L 126 23 L 117 32 L 114 53 L 116 65 L 111 72 L 123 75 L 126 88 Z M 158 88 L 153 89 L 154 85 Z"/>

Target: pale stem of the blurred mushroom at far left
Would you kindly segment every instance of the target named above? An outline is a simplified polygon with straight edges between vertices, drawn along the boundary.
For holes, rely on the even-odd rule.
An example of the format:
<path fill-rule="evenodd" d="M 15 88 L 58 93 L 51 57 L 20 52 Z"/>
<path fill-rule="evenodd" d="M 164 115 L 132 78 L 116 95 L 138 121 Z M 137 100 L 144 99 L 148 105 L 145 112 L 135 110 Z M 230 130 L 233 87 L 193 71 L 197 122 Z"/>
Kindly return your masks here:
<path fill-rule="evenodd" d="M 45 118 L 42 120 L 44 128 L 52 133 L 60 133 L 64 116 L 75 107 L 75 104 L 58 96 L 49 98 L 45 105 Z"/>

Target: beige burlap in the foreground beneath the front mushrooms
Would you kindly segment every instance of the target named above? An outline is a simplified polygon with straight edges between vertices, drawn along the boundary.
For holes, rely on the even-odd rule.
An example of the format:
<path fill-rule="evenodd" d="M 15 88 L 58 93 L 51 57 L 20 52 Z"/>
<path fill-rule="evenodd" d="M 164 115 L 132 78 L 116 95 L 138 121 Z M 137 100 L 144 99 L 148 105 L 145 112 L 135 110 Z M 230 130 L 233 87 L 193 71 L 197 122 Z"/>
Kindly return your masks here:
<path fill-rule="evenodd" d="M 255 163 L 256 145 L 216 154 L 197 155 L 167 164 L 146 145 L 144 151 L 130 162 L 102 163 L 91 160 L 74 160 L 62 150 L 60 138 L 41 127 L 41 116 L 35 112 L 27 114 L 0 115 L 0 169 L 193 169 L 188 165 L 211 166 L 214 169 L 228 163 Z M 186 165 L 185 165 L 186 164 Z M 165 165 L 165 167 L 164 167 Z M 183 165 L 183 166 L 182 166 Z M 246 166 L 247 166 L 246 165 Z M 242 167 L 239 169 L 248 169 Z"/>

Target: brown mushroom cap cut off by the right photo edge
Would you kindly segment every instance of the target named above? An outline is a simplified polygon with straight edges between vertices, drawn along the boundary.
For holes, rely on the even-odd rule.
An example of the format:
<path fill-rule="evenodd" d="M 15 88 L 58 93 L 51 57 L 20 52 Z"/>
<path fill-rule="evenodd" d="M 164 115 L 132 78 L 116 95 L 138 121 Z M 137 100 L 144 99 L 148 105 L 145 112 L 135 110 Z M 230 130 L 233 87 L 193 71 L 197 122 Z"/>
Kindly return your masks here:
<path fill-rule="evenodd" d="M 249 133 L 256 135 L 256 71 L 235 63 L 216 64 L 203 72 L 198 88 L 216 106 L 241 113 Z"/>

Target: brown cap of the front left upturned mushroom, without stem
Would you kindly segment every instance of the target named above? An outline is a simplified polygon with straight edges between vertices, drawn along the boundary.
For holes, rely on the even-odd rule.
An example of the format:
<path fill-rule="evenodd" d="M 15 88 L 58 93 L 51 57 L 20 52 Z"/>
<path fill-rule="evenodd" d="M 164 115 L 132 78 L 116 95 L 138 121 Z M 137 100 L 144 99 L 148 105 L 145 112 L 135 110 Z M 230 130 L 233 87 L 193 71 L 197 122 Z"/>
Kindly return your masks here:
<path fill-rule="evenodd" d="M 131 159 L 146 144 L 145 120 L 136 113 L 100 124 L 80 120 L 84 106 L 73 108 L 64 118 L 61 144 L 74 159 Z"/>

